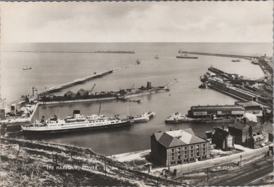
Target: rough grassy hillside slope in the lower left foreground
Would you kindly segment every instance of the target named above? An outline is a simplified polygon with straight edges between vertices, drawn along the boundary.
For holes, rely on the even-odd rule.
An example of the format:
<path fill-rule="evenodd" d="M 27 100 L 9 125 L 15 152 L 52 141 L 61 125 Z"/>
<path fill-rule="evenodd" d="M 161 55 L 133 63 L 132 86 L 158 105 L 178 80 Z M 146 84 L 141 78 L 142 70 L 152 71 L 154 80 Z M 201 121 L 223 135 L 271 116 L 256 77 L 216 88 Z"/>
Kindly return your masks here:
<path fill-rule="evenodd" d="M 0 186 L 180 186 L 89 148 L 1 139 Z"/>

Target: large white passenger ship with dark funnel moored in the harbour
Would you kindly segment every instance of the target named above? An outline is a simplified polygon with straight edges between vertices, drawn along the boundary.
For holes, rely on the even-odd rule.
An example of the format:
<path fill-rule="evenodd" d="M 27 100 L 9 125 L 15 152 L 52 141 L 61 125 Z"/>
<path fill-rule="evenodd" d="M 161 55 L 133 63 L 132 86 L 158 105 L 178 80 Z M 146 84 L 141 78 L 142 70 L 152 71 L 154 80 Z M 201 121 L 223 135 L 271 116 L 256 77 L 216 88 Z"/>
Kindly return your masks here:
<path fill-rule="evenodd" d="M 65 119 L 58 119 L 57 116 L 53 116 L 46 121 L 42 119 L 40 122 L 31 125 L 21 125 L 21 128 L 23 132 L 54 133 L 93 130 L 129 124 L 128 119 L 120 119 L 119 116 L 105 117 L 104 115 L 93 114 L 85 118 L 79 110 L 74 110 L 73 116 L 67 116 Z"/>

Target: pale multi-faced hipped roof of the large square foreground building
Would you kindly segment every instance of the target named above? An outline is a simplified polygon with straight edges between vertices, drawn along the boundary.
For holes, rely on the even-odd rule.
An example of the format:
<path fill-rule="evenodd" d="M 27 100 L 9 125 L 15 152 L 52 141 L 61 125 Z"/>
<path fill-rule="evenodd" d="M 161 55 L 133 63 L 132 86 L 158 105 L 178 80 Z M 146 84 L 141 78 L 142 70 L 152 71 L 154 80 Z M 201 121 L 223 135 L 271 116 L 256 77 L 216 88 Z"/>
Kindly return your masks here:
<path fill-rule="evenodd" d="M 195 136 L 192 129 L 171 130 L 168 132 L 157 132 L 152 134 L 156 141 L 166 148 L 185 146 L 188 144 L 198 144 L 207 140 Z"/>

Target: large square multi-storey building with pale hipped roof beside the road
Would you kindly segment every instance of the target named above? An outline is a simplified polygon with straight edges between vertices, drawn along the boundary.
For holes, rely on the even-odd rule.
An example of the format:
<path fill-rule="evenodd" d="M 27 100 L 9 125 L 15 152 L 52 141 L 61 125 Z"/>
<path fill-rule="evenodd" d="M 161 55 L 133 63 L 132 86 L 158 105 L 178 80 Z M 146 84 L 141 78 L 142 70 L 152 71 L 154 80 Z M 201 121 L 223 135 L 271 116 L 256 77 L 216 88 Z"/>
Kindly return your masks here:
<path fill-rule="evenodd" d="M 210 157 L 209 141 L 195 136 L 192 129 L 157 132 L 151 136 L 152 159 L 165 166 Z"/>

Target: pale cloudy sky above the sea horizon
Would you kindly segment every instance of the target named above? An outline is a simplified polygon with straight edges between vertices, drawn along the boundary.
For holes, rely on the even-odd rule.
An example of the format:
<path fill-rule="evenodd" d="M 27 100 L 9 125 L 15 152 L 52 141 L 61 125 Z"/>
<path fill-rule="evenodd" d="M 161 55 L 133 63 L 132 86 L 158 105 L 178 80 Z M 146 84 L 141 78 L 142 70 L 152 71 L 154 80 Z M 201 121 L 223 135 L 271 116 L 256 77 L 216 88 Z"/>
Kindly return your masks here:
<path fill-rule="evenodd" d="M 272 42 L 273 1 L 1 2 L 1 43 Z"/>

